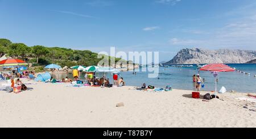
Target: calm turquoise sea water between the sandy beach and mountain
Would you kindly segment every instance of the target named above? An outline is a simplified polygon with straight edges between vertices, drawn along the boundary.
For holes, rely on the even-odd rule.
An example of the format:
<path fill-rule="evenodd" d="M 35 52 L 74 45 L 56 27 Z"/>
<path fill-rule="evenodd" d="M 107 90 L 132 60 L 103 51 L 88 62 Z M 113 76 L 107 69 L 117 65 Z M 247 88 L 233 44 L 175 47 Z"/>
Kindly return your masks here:
<path fill-rule="evenodd" d="M 237 70 L 250 73 L 246 75 L 239 73 L 238 71 L 219 73 L 217 90 L 220 90 L 222 86 L 226 87 L 228 91 L 235 90 L 237 92 L 256 92 L 256 64 L 227 64 Z M 137 69 L 137 74 L 133 75 L 132 71 L 121 72 L 121 77 L 126 81 L 126 85 L 129 86 L 141 86 L 142 83 L 146 85 L 152 85 L 155 87 L 166 87 L 171 85 L 174 89 L 193 90 L 192 75 L 197 74 L 199 71 L 196 66 L 191 68 L 159 68 L 159 79 L 148 78 L 148 72 L 142 72 L 142 69 Z M 96 73 L 96 77 L 101 77 L 101 73 Z M 60 75 L 61 78 L 65 75 Z M 84 74 L 81 75 L 83 77 Z M 215 90 L 215 82 L 213 74 L 209 71 L 200 71 L 200 76 L 205 79 L 205 88 L 202 90 L 213 91 Z M 72 74 L 68 74 L 68 77 L 72 77 Z M 112 81 L 112 75 L 106 74 L 106 77 Z"/>

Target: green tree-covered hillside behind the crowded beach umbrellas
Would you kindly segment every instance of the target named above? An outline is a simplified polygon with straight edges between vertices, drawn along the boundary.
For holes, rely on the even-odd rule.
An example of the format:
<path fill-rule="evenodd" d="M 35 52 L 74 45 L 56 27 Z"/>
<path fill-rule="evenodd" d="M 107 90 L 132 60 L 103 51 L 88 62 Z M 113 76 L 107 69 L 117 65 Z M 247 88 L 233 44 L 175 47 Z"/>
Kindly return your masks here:
<path fill-rule="evenodd" d="M 60 66 L 97 65 L 102 58 L 97 58 L 98 54 L 90 50 L 73 50 L 60 47 L 44 47 L 35 45 L 28 47 L 23 43 L 12 43 L 7 39 L 0 39 L 0 56 L 7 55 L 13 58 L 20 58 L 26 62 L 33 63 L 34 66 L 59 64 Z M 110 60 L 110 57 L 109 57 Z M 121 58 L 115 58 L 115 62 Z M 125 60 L 123 60 L 125 61 Z"/>

